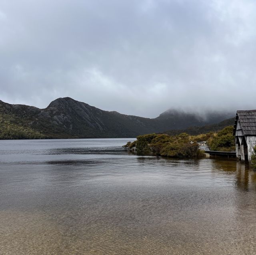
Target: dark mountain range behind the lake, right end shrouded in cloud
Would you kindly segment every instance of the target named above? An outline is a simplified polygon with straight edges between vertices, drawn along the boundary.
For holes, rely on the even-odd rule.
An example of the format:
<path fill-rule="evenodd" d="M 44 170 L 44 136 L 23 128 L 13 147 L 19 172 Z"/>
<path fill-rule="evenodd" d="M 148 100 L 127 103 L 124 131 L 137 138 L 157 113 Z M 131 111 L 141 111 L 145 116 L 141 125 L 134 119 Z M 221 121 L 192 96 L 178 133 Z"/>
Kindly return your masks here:
<path fill-rule="evenodd" d="M 58 98 L 45 109 L 0 101 L 0 138 L 115 138 L 202 127 L 235 113 L 194 113 L 168 110 L 155 119 L 103 111 L 70 97 Z"/>

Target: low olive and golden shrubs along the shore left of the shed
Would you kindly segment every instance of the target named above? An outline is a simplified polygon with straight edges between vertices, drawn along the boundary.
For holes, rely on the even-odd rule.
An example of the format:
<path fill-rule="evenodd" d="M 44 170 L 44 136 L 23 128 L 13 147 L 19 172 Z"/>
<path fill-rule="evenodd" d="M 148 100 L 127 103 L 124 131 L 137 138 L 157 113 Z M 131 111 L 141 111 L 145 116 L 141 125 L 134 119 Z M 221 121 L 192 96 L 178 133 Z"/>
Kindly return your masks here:
<path fill-rule="evenodd" d="M 186 133 L 178 135 L 144 134 L 137 137 L 134 142 L 128 142 L 124 148 L 136 151 L 139 155 L 156 155 L 168 157 L 195 158 L 203 155 L 197 142 L 207 141 L 210 150 L 232 151 L 235 150 L 232 126 L 219 132 L 208 132 L 191 136 Z"/>

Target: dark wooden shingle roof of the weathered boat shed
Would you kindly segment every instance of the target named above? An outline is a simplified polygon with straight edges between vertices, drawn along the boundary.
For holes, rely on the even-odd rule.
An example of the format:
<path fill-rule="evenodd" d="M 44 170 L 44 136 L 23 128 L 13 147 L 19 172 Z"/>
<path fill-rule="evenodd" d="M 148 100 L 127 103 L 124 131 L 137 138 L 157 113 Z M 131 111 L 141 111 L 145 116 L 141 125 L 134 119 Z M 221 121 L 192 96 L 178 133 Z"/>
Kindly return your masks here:
<path fill-rule="evenodd" d="M 236 125 L 238 122 L 240 122 L 244 135 L 256 136 L 256 110 L 236 112 L 233 135 L 236 133 Z"/>

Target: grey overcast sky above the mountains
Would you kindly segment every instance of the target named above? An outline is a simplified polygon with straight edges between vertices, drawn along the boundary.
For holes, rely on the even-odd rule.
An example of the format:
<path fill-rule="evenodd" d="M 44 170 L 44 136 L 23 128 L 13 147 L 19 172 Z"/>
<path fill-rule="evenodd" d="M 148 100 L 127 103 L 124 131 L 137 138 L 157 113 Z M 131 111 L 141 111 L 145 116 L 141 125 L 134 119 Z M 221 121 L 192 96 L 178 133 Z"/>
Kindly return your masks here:
<path fill-rule="evenodd" d="M 0 0 L 0 100 L 157 117 L 256 109 L 255 0 Z"/>

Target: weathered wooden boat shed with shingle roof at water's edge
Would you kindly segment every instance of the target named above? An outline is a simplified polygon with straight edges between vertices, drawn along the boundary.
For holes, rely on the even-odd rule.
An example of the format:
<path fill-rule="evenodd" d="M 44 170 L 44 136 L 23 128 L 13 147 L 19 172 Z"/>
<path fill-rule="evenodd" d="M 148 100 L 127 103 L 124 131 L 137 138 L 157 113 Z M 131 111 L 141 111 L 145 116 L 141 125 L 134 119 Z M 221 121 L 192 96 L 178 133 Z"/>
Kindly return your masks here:
<path fill-rule="evenodd" d="M 250 161 L 256 145 L 256 110 L 236 112 L 233 135 L 236 139 L 236 158 Z"/>

